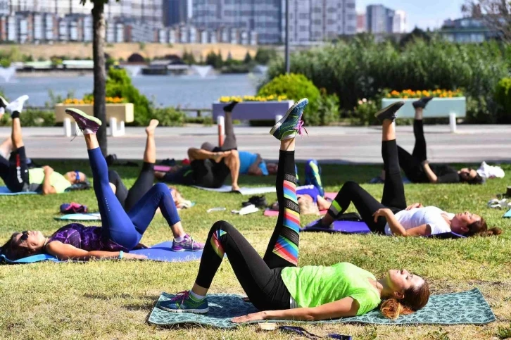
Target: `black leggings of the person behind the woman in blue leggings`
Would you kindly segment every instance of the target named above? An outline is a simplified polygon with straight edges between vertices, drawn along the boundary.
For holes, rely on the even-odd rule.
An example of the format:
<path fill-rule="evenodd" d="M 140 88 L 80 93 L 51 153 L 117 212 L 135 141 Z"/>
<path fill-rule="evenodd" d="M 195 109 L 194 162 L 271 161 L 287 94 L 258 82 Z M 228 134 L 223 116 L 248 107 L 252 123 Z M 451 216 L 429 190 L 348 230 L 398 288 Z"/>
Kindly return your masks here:
<path fill-rule="evenodd" d="M 146 163 L 142 164 L 142 168 L 139 173 L 139 177 L 133 184 L 130 190 L 128 190 L 125 184 L 120 179 L 119 174 L 115 170 L 108 170 L 108 182 L 115 185 L 115 196 L 118 198 L 125 211 L 130 211 L 131 208 L 146 194 L 154 182 L 154 164 Z"/>

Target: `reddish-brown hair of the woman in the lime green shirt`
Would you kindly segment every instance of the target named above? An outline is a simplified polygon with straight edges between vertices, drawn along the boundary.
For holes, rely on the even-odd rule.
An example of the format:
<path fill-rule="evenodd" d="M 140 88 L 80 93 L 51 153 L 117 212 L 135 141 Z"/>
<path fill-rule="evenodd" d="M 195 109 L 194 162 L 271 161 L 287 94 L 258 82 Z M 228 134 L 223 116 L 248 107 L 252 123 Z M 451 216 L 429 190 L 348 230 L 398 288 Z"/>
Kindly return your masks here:
<path fill-rule="evenodd" d="M 429 301 L 429 284 L 424 280 L 424 284 L 420 287 L 410 287 L 404 294 L 405 296 L 400 300 L 389 298 L 381 303 L 381 314 L 389 319 L 396 319 L 401 314 L 412 314 L 423 308 Z"/>

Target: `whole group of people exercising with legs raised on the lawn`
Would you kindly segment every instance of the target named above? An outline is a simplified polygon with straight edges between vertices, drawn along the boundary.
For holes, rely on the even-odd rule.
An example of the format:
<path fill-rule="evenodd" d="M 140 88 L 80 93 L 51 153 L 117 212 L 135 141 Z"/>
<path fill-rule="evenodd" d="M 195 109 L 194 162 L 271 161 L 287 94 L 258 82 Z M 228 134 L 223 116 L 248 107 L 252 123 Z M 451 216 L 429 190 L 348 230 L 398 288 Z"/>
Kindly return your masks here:
<path fill-rule="evenodd" d="M 32 169 L 26 165 L 25 148 L 21 135 L 20 113 L 25 97 L 8 103 L 0 99 L 0 106 L 11 111 L 12 136 L 9 160 L 0 158 L 0 175 L 11 191 L 39 190 L 46 194 L 62 192 L 70 184 L 84 180 L 79 171 L 68 172 L 60 178 L 51 168 L 44 167 L 43 180 L 34 180 Z M 421 99 L 418 108 L 424 108 L 428 99 Z M 229 175 L 232 189 L 238 188 L 240 169 L 239 151 L 230 117 L 236 103 L 226 106 L 226 139 L 222 146 L 189 149 L 189 167 L 175 168 L 160 179 L 179 183 L 196 184 L 205 187 L 219 187 Z M 182 291 L 169 301 L 160 302 L 158 308 L 170 312 L 207 313 L 210 288 L 218 267 L 227 254 L 236 277 L 248 298 L 260 310 L 259 313 L 235 317 L 233 322 L 251 320 L 324 320 L 337 317 L 362 315 L 380 306 L 386 317 L 413 313 L 423 308 L 429 300 L 428 282 L 407 270 L 391 269 L 383 277 L 351 263 L 337 263 L 332 266 L 298 267 L 298 243 L 300 228 L 300 201 L 313 201 L 328 213 L 317 222 L 319 227 L 329 228 L 351 203 L 360 213 L 362 220 L 372 232 L 396 236 L 423 236 L 452 231 L 466 236 L 500 234 L 500 229 L 489 229 L 481 216 L 469 213 L 447 213 L 434 206 L 424 207 L 420 203 L 407 205 L 400 168 L 403 168 L 400 151 L 396 143 L 394 120 L 403 102 L 393 103 L 379 113 L 382 125 L 381 154 L 384 160 L 385 183 L 381 202 L 374 199 L 355 182 L 346 182 L 333 201 L 324 199 L 320 180 L 319 165 L 310 161 L 306 168 L 307 187 L 297 188 L 294 152 L 296 134 L 301 134 L 302 115 L 308 99 L 297 101 L 284 118 L 272 127 L 270 134 L 279 140 L 278 164 L 264 166 L 277 173 L 276 189 L 279 210 L 277 224 L 270 237 L 265 255 L 257 251 L 225 221 L 213 224 L 205 244 L 194 241 L 184 232 L 177 212 L 184 199 L 175 188 L 163 183 L 153 185 L 156 163 L 154 132 L 157 120 L 151 120 L 146 128 L 146 150 L 144 164 L 134 186 L 127 190 L 116 172 L 109 171 L 96 139 L 101 120 L 75 108 L 66 109 L 82 130 L 89 162 L 92 169 L 94 193 L 101 215 L 101 227 L 85 227 L 72 223 L 58 229 L 50 237 L 42 232 L 15 232 L 1 247 L 1 254 L 10 259 L 23 258 L 37 253 L 49 253 L 62 260 L 87 260 L 89 258 L 144 258 L 129 253 L 140 247 L 140 240 L 159 208 L 172 230 L 174 251 L 198 251 L 203 249 L 194 286 Z M 417 110 L 415 133 L 417 140 L 424 139 L 422 132 L 422 110 Z M 2 144 L 2 147 L 6 145 Z M 442 182 L 446 174 L 435 173 L 428 166 L 425 141 L 418 141 L 413 155 L 422 168 L 405 170 L 417 179 L 423 172 L 430 182 Z M 404 160 L 403 160 L 404 162 Z M 259 159 L 254 159 L 254 175 L 263 175 Z M 415 165 L 417 165 L 415 164 Z M 260 172 L 256 169 L 259 169 Z M 422 170 L 420 170 L 422 169 Z M 431 175 L 431 173 L 433 175 Z M 474 182 L 472 171 L 462 169 L 457 182 Z M 408 175 L 408 173 L 407 173 Z M 58 178 L 57 178 L 58 177 Z M 411 178 L 411 175 L 408 175 Z M 436 177 L 436 180 L 434 178 Z M 454 178 L 454 176 L 453 176 Z M 467 179 L 467 180 L 465 180 Z M 32 182 L 34 180 L 34 182 Z M 67 182 L 63 182 L 63 181 Z M 53 189 L 51 189 L 53 187 Z"/>

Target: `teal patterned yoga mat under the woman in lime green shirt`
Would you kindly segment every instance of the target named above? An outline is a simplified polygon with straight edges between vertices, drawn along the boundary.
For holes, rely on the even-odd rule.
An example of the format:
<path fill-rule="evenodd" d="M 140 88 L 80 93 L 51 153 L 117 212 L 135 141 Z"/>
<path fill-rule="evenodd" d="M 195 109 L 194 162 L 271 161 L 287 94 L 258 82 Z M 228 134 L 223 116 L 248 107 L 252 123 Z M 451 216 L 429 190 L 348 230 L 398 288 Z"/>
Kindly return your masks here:
<path fill-rule="evenodd" d="M 162 293 L 160 301 L 168 300 L 170 294 Z M 252 305 L 241 300 L 242 296 L 234 294 L 211 294 L 208 295 L 209 312 L 203 315 L 192 313 L 172 313 L 158 308 L 158 303 L 151 310 L 148 322 L 159 326 L 180 324 L 194 324 L 217 328 L 234 328 L 242 324 L 231 322 L 232 317 L 255 313 L 258 310 Z M 267 320 L 251 321 L 259 322 L 284 322 L 301 324 L 341 324 L 362 323 L 373 325 L 484 325 L 496 320 L 490 306 L 484 300 L 479 289 L 461 293 L 432 295 L 428 304 L 415 313 L 401 315 L 396 320 L 390 320 L 381 315 L 378 309 L 356 317 L 343 317 L 336 320 L 323 321 L 291 321 L 291 320 Z"/>

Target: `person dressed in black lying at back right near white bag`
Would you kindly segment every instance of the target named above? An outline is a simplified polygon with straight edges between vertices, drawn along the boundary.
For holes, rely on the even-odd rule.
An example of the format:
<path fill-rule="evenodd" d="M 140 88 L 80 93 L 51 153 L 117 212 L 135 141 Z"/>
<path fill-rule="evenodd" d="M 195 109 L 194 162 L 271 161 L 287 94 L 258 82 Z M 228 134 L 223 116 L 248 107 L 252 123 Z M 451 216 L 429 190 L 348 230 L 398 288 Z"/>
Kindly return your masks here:
<path fill-rule="evenodd" d="M 433 98 L 424 97 L 412 103 L 415 108 L 415 120 L 413 121 L 415 146 L 411 155 L 408 151 L 398 146 L 399 166 L 412 183 L 483 184 L 483 177 L 472 168 L 455 170 L 448 165 L 430 164 L 427 160 L 422 113 L 431 99 Z"/>

